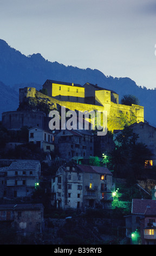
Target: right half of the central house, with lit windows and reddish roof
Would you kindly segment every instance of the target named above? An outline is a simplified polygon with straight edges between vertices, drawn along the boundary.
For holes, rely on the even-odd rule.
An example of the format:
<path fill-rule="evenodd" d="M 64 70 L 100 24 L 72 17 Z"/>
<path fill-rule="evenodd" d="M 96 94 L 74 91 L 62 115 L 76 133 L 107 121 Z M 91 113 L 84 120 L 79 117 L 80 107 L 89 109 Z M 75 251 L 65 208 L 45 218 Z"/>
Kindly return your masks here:
<path fill-rule="evenodd" d="M 83 206 L 111 208 L 113 197 L 112 173 L 101 166 L 79 164 L 77 170 L 83 173 Z"/>

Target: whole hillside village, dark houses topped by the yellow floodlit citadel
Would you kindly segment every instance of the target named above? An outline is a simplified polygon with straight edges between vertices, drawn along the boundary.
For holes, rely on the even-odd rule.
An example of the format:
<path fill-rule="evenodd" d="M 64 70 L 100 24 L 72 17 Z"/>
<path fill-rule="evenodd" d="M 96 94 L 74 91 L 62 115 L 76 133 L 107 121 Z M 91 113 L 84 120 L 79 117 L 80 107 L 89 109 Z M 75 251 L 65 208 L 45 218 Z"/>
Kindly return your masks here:
<path fill-rule="evenodd" d="M 62 106 L 107 111 L 107 134 L 50 130 Z M 156 243 L 156 128 L 143 106 L 97 84 L 47 80 L 40 92 L 19 89 L 0 132 L 0 244 Z"/>

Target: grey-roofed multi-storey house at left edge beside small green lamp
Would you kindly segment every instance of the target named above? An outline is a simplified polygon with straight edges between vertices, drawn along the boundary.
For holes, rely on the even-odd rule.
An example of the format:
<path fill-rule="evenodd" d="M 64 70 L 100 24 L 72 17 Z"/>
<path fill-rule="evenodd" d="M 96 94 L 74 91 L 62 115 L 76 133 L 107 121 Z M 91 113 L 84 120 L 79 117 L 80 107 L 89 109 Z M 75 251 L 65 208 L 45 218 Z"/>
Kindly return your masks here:
<path fill-rule="evenodd" d="M 14 161 L 9 167 L 0 168 L 0 194 L 2 197 L 30 197 L 39 184 L 40 161 Z"/>

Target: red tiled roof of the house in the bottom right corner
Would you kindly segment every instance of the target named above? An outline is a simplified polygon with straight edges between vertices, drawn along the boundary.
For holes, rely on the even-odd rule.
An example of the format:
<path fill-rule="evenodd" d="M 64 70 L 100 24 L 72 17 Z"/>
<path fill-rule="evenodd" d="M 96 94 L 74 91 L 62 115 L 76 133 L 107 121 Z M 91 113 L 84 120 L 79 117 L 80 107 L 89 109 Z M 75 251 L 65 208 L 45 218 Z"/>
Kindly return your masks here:
<path fill-rule="evenodd" d="M 156 200 L 152 199 L 132 199 L 132 214 L 144 215 L 146 209 L 152 208 L 156 211 Z"/>

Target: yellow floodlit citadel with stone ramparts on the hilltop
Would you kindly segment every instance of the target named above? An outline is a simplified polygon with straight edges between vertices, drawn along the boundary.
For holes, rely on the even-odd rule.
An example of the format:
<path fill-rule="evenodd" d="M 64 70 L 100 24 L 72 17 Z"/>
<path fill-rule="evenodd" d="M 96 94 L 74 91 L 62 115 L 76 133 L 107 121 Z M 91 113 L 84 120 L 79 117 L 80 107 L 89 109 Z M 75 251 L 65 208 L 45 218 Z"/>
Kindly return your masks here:
<path fill-rule="evenodd" d="M 133 123 L 144 122 L 144 107 L 139 105 L 127 106 L 119 104 L 119 95 L 113 90 L 104 89 L 97 84 L 80 84 L 47 80 L 43 84 L 44 92 L 38 92 L 35 88 L 19 89 L 19 103 L 25 99 L 35 99 L 57 109 L 64 106 L 73 111 L 107 111 L 108 130 L 124 128 L 124 121 Z M 43 91 L 42 91 L 43 92 Z"/>

